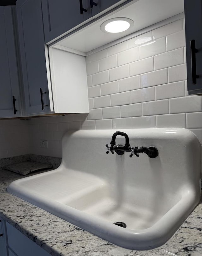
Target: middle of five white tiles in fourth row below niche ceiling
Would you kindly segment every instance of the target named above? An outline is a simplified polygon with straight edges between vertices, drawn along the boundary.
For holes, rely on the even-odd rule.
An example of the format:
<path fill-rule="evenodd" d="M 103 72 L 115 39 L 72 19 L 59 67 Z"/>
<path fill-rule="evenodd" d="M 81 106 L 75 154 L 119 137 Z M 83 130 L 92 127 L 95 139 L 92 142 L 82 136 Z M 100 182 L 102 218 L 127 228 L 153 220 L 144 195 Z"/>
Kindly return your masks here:
<path fill-rule="evenodd" d="M 140 76 L 131 76 L 119 80 L 119 92 L 132 91 L 140 88 Z"/>

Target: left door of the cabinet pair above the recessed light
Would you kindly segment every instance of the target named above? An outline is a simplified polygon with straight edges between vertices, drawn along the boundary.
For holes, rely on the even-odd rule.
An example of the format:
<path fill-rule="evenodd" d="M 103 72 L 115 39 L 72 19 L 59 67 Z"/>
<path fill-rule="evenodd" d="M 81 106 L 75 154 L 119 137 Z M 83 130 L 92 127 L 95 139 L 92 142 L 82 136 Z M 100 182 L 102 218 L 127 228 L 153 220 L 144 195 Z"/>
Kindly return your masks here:
<path fill-rule="evenodd" d="M 80 0 L 42 1 L 45 43 L 91 17 L 89 0 L 82 0 L 81 3 L 87 10 L 83 11 L 83 15 L 80 13 Z"/>

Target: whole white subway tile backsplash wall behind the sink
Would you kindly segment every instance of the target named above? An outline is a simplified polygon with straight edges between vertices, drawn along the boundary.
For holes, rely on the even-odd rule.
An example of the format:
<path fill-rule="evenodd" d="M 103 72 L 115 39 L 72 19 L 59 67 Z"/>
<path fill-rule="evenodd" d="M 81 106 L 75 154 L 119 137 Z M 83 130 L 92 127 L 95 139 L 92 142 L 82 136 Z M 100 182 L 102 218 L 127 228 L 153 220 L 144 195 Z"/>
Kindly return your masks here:
<path fill-rule="evenodd" d="M 63 133 L 78 129 L 183 127 L 202 143 L 202 97 L 187 95 L 183 19 L 94 53 L 86 66 L 90 113 L 29 120 L 30 153 L 61 157 Z"/>

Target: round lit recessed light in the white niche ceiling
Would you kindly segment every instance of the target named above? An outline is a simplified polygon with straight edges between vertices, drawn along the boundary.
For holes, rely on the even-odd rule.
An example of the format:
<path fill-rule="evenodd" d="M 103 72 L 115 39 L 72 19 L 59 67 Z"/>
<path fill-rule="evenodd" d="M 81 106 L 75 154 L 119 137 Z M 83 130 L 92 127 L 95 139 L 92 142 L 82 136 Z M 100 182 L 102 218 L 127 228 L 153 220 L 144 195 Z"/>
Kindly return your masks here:
<path fill-rule="evenodd" d="M 113 18 L 104 21 L 100 26 L 100 29 L 104 33 L 120 33 L 133 26 L 134 22 L 128 18 Z"/>

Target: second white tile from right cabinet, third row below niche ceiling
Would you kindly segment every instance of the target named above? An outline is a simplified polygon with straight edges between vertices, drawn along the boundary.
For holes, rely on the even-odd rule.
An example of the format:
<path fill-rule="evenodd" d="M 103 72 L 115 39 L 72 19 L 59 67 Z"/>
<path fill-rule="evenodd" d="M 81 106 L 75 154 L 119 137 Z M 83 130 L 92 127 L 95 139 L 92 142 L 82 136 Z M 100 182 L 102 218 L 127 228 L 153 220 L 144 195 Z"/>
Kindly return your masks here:
<path fill-rule="evenodd" d="M 153 57 L 129 64 L 130 76 L 136 76 L 154 70 Z"/>

